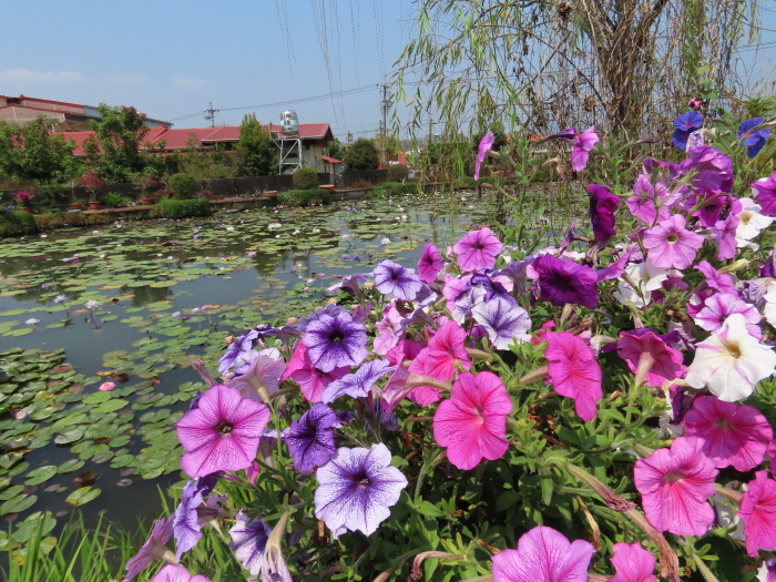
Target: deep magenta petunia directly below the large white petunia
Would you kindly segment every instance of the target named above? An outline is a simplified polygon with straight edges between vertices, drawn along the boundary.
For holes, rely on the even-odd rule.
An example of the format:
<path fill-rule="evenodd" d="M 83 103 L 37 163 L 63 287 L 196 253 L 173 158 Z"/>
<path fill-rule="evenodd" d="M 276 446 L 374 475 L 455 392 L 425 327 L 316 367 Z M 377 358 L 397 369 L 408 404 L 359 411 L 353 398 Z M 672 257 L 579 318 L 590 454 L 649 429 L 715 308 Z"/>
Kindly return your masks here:
<path fill-rule="evenodd" d="M 702 396 L 684 417 L 684 435 L 704 440 L 703 452 L 717 469 L 732 464 L 738 471 L 749 471 L 763 462 L 774 430 L 753 406 Z"/>

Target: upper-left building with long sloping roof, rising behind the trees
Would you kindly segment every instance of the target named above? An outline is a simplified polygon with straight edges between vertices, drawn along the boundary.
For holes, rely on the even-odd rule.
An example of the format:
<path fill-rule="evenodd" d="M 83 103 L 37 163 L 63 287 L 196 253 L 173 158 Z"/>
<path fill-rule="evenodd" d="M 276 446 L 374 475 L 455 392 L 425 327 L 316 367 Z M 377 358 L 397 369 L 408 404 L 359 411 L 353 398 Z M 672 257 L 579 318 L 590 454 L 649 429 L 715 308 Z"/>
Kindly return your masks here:
<path fill-rule="evenodd" d="M 50 119 L 57 132 L 85 131 L 90 129 L 90 121 L 98 121 L 101 118 L 100 110 L 91 105 L 25 95 L 0 95 L 0 121 L 24 125 L 40 116 Z M 145 124 L 155 127 L 163 125 L 164 122 L 146 118 Z"/>

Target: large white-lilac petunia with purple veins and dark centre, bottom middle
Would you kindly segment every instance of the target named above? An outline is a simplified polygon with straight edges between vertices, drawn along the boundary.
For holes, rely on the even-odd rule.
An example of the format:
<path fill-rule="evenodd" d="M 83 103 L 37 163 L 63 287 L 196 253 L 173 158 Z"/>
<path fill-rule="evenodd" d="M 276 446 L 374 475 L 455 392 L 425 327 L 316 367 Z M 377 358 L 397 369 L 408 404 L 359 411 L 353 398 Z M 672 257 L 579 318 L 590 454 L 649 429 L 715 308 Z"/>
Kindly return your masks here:
<path fill-rule="evenodd" d="M 407 487 L 407 478 L 390 466 L 390 459 L 382 443 L 337 449 L 336 457 L 316 472 L 315 517 L 331 531 L 345 528 L 370 535 Z"/>

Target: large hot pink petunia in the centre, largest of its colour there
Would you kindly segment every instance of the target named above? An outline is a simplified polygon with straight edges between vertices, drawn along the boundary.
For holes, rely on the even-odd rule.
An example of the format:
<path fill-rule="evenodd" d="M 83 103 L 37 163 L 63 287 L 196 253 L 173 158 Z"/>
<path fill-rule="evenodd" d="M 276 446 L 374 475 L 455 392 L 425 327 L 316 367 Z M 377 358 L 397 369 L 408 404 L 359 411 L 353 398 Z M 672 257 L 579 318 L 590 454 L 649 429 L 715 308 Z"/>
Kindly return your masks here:
<path fill-rule="evenodd" d="M 450 399 L 433 415 L 433 438 L 447 447 L 459 469 L 473 469 L 484 459 L 499 459 L 509 447 L 507 415 L 512 399 L 498 376 L 489 371 L 461 374 Z"/>

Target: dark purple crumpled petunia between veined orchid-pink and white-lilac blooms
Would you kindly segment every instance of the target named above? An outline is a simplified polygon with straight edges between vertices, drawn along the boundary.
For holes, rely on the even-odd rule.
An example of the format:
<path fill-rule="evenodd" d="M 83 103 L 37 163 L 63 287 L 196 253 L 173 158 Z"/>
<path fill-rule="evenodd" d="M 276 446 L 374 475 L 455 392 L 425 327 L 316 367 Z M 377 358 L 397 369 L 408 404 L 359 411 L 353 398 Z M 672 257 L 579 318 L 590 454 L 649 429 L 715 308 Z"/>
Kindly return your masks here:
<path fill-rule="evenodd" d="M 309 473 L 316 466 L 321 467 L 334 457 L 334 428 L 338 423 L 335 411 L 320 402 L 292 422 L 284 440 L 294 459 L 294 469 Z"/>

